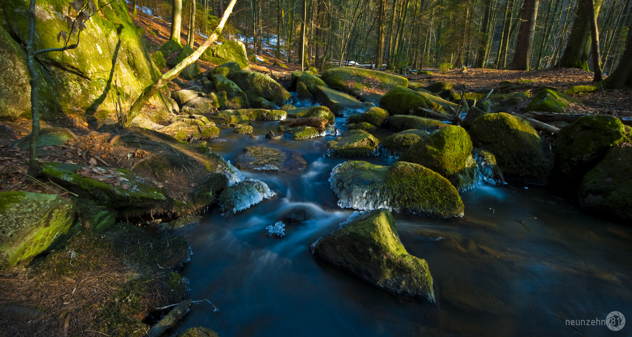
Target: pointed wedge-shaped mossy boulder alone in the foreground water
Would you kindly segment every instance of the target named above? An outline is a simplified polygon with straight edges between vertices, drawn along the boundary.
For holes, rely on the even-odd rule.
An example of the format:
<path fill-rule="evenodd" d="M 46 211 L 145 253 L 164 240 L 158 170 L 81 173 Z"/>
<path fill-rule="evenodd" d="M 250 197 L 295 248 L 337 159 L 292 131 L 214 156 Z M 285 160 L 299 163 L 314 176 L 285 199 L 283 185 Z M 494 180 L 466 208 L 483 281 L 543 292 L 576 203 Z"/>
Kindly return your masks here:
<path fill-rule="evenodd" d="M 428 263 L 406 252 L 387 209 L 352 214 L 310 248 L 315 257 L 372 285 L 435 301 Z"/>

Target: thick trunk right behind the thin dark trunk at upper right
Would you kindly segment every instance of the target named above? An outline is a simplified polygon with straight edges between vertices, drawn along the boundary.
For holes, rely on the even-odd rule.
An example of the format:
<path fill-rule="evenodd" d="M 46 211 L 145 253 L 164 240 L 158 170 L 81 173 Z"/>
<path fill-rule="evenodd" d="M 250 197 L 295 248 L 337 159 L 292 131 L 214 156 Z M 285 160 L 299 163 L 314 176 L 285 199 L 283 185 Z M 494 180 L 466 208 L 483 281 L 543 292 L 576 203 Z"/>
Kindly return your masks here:
<path fill-rule="evenodd" d="M 588 57 L 590 56 L 590 12 L 599 13 L 603 0 L 579 0 L 575 11 L 575 20 L 571 35 L 568 37 L 566 49 L 559 59 L 561 68 L 579 68 L 588 71 Z"/>

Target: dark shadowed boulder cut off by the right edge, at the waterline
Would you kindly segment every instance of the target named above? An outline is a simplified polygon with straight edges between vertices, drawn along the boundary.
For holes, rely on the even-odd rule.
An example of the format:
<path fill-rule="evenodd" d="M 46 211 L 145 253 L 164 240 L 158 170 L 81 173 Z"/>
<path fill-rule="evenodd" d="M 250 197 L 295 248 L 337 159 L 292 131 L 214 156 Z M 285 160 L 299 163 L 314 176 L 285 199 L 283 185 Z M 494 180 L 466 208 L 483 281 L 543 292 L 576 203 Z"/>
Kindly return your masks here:
<path fill-rule="evenodd" d="M 632 147 L 611 147 L 581 180 L 579 194 L 585 209 L 632 219 Z"/>

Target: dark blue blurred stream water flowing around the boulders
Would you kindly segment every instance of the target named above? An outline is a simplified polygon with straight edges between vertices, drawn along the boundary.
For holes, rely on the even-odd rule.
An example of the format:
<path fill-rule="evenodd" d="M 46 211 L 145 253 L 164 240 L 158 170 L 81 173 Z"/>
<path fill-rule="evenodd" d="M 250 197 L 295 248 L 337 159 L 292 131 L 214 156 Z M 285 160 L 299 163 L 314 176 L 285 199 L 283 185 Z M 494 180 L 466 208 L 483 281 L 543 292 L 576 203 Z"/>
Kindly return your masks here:
<path fill-rule="evenodd" d="M 344 118 L 336 119 L 344 128 Z M 606 326 L 566 320 L 632 317 L 632 228 L 583 212 L 573 198 L 547 188 L 483 183 L 461 193 L 465 216 L 429 219 L 394 214 L 408 252 L 427 260 L 437 303 L 382 290 L 312 257 L 309 246 L 339 226 L 352 209 L 337 206 L 329 173 L 360 159 L 391 165 L 383 156 L 325 157 L 327 141 L 268 140 L 276 122 L 253 123 L 257 138 L 222 129 L 209 146 L 234 161 L 246 145 L 296 150 L 301 173 L 252 173 L 276 197 L 233 216 L 214 205 L 198 230 L 185 269 L 191 308 L 176 331 L 205 326 L 219 336 L 632 336 Z M 391 134 L 377 130 L 382 141 Z M 295 207 L 314 218 L 265 228 Z M 537 218 L 529 221 L 519 219 Z M 596 324 L 596 323 L 595 323 Z"/>

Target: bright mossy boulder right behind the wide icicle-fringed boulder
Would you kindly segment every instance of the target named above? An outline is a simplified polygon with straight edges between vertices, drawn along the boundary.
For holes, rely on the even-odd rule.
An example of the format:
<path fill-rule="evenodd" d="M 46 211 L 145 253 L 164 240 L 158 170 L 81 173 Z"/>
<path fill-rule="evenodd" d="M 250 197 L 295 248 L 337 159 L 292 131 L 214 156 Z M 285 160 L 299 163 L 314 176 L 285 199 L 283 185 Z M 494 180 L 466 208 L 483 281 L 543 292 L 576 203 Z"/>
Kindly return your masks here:
<path fill-rule="evenodd" d="M 399 161 L 432 169 L 446 177 L 457 190 L 466 191 L 478 183 L 478 166 L 471 151 L 472 143 L 465 129 L 448 125 L 413 144 Z"/>

